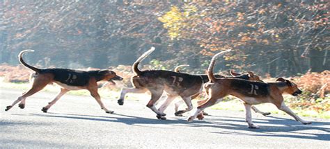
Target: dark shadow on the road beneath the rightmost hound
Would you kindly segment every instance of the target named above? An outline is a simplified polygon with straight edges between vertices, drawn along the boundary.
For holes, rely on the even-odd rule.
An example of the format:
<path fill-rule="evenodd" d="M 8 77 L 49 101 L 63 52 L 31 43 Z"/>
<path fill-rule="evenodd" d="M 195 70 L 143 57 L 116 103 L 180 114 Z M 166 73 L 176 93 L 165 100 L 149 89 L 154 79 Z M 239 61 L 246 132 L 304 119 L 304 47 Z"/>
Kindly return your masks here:
<path fill-rule="evenodd" d="M 318 122 L 313 121 L 311 125 L 304 125 L 300 122 L 294 121 L 293 119 L 284 119 L 276 116 L 267 116 L 271 119 L 253 119 L 254 123 L 260 125 L 260 129 L 249 129 L 246 128 L 247 124 L 244 125 L 245 120 L 243 118 L 232 119 L 232 117 L 228 116 L 217 116 L 217 119 L 211 121 L 214 123 L 213 127 L 223 128 L 219 132 L 219 134 L 238 134 L 238 135 L 246 135 L 246 136 L 264 136 L 264 137 L 288 137 L 288 138 L 299 138 L 299 139 L 315 139 L 322 141 L 330 141 L 330 122 Z M 223 124 L 227 121 L 231 121 L 230 123 L 244 122 L 243 125 L 236 125 L 237 128 L 235 130 L 245 130 L 245 132 L 233 132 L 230 129 L 233 129 L 233 125 L 223 126 Z M 218 124 L 218 126 L 217 126 Z M 220 125 L 220 126 L 219 126 Z M 203 126 L 203 125 L 202 125 Z M 323 127 L 322 127 L 323 126 Z M 256 133 L 249 133 L 249 132 Z M 311 130 L 319 133 L 313 133 Z M 285 132 L 285 134 L 281 134 L 278 132 Z"/>

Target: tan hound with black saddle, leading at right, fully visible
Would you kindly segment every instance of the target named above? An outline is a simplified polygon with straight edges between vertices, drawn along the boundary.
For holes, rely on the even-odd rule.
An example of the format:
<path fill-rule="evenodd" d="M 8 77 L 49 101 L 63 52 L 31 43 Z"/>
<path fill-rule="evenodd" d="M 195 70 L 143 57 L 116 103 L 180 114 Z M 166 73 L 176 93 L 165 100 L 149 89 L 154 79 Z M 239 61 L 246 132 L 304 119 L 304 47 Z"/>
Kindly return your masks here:
<path fill-rule="evenodd" d="M 228 51 L 224 51 L 228 52 Z M 260 103 L 273 103 L 283 112 L 292 116 L 296 121 L 303 124 L 311 124 L 310 121 L 304 121 L 292 112 L 284 103 L 282 94 L 291 94 L 298 96 L 302 93 L 294 82 L 278 78 L 276 82 L 256 82 L 250 80 L 242 80 L 237 78 L 216 78 L 213 74 L 214 62 L 223 52 L 214 55 L 207 70 L 207 76 L 210 82 L 205 84 L 208 89 L 207 102 L 197 107 L 194 115 L 190 116 L 188 121 L 194 121 L 196 116 L 200 114 L 206 107 L 210 107 L 217 103 L 227 95 L 235 96 L 244 102 L 246 112 L 246 122 L 249 128 L 259 128 L 258 125 L 252 123 L 251 105 Z"/>

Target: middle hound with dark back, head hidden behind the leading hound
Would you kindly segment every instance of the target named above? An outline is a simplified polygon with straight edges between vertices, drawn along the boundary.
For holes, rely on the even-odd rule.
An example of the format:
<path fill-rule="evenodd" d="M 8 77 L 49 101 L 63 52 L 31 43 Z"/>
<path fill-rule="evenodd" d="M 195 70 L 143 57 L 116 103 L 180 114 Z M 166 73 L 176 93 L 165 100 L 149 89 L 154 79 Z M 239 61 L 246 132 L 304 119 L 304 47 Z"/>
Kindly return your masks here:
<path fill-rule="evenodd" d="M 171 101 L 177 96 L 180 96 L 184 100 L 184 103 L 187 105 L 187 109 L 178 110 L 175 114 L 178 115 L 190 111 L 193 108 L 191 104 L 191 96 L 199 94 L 199 92 L 203 89 L 203 83 L 206 82 L 205 79 L 207 79 L 207 76 L 203 78 L 198 75 L 176 73 L 174 71 L 139 70 L 139 63 L 154 50 L 155 48 L 152 47 L 150 50 L 146 51 L 146 53 L 143 53 L 143 55 L 141 55 L 136 62 L 134 62 L 132 69 L 134 73 L 136 73 L 136 76 L 132 76 L 131 78 L 131 82 L 134 87 L 121 89 L 118 104 L 124 104 L 125 94 L 127 93 L 145 93 L 146 91 L 150 91 L 151 99 L 147 104 L 147 107 L 157 114 L 157 119 L 166 119 L 164 109 L 166 109 L 168 104 L 171 103 Z M 155 104 L 163 93 L 167 96 L 166 103 L 157 109 Z"/>

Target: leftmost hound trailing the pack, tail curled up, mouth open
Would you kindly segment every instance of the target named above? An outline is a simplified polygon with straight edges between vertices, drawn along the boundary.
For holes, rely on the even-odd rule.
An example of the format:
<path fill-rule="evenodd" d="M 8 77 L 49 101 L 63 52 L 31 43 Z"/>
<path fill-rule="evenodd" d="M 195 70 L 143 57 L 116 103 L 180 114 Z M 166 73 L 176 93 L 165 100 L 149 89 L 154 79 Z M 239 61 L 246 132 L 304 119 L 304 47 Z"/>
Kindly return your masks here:
<path fill-rule="evenodd" d="M 21 51 L 18 55 L 18 58 L 21 64 L 36 72 L 33 75 L 33 85 L 29 91 L 26 91 L 26 93 L 24 93 L 22 96 L 19 96 L 19 98 L 17 98 L 17 100 L 15 100 L 12 105 L 8 105 L 5 109 L 6 111 L 11 109 L 15 104 L 19 102 L 21 102 L 19 103 L 19 107 L 24 109 L 25 99 L 27 97 L 35 94 L 36 92 L 46 87 L 46 85 L 52 84 L 54 82 L 61 86 L 61 91 L 54 98 L 54 100 L 52 100 L 52 102 L 50 102 L 47 106 L 42 107 L 42 112 L 47 112 L 47 110 L 52 107 L 52 105 L 54 105 L 56 101 L 68 91 L 87 89 L 91 93 L 91 96 L 93 96 L 93 98 L 95 98 L 97 103 L 100 105 L 101 109 L 107 113 L 113 113 L 113 111 L 104 107 L 101 101 L 101 97 L 97 92 L 97 82 L 100 80 L 106 80 L 115 84 L 115 82 L 112 80 L 123 80 L 123 78 L 117 76 L 115 72 L 107 69 L 97 71 L 79 71 L 72 69 L 38 69 L 24 62 L 22 55 L 26 52 L 33 52 L 33 50 Z"/>

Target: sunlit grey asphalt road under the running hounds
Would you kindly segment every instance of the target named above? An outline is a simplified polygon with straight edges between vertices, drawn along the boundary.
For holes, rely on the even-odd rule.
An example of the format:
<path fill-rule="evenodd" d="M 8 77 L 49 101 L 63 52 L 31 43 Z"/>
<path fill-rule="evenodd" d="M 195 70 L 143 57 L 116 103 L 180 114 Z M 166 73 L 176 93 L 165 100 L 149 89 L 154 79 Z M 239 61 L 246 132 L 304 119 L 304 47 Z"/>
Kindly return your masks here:
<path fill-rule="evenodd" d="M 211 110 L 203 121 L 186 121 L 189 114 L 157 120 L 146 107 L 148 99 L 114 98 L 104 104 L 115 114 L 103 112 L 90 96 L 65 95 L 48 113 L 42 107 L 56 96 L 43 92 L 26 100 L 25 109 L 4 109 L 22 90 L 1 89 L 0 148 L 329 148 L 330 121 L 313 119 L 302 125 L 290 116 L 253 113 L 258 130 L 247 128 L 244 112 Z M 220 103 L 221 104 L 221 103 Z"/>

